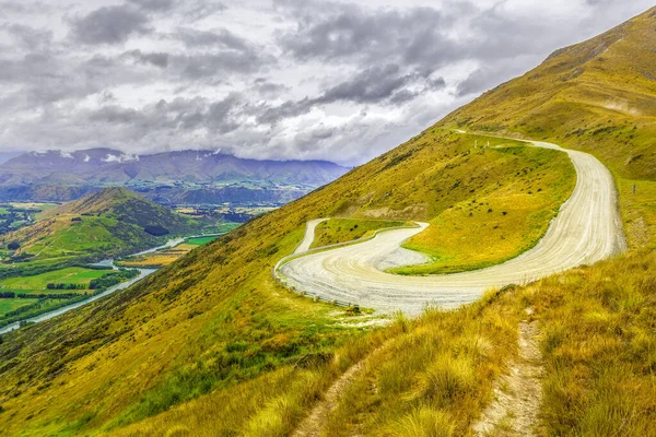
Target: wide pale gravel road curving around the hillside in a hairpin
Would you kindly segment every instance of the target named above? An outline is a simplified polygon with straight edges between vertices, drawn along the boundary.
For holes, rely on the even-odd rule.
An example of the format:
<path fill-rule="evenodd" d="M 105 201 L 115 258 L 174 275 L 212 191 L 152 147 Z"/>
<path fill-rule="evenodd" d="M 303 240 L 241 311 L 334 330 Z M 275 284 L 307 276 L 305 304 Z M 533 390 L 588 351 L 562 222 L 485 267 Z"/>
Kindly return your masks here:
<path fill-rule="evenodd" d="M 426 305 L 453 308 L 478 299 L 484 291 L 522 284 L 589 264 L 625 248 L 617 192 L 610 172 L 594 156 L 555 144 L 529 142 L 570 155 L 577 173 L 572 196 L 551 222 L 544 237 L 530 250 L 505 263 L 483 270 L 448 275 L 402 276 L 385 268 L 425 262 L 425 257 L 400 245 L 425 229 L 401 228 L 379 233 L 373 239 L 309 252 L 282 263 L 277 276 L 311 296 L 339 299 L 382 312 L 420 314 Z M 307 250 L 314 229 L 323 220 L 307 224 L 297 253 Z"/>

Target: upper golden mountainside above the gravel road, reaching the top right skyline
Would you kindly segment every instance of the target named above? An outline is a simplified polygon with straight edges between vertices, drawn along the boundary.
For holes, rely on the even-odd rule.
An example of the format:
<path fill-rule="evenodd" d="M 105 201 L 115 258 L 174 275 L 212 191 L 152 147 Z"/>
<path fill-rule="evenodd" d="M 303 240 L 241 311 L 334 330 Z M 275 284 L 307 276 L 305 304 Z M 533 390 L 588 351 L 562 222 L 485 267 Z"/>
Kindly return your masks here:
<path fill-rule="evenodd" d="M 596 155 L 628 179 L 656 178 L 656 10 L 552 54 L 444 125 L 519 132 Z"/>

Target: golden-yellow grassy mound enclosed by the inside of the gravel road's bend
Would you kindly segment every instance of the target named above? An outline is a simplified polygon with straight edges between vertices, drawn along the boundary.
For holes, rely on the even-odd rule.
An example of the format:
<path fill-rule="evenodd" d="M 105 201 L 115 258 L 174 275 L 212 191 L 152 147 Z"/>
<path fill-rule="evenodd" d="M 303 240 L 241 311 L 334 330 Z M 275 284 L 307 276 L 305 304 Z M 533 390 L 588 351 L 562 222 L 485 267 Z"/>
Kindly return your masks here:
<path fill-rule="evenodd" d="M 477 190 L 433 218 L 426 231 L 403 245 L 431 255 L 433 262 L 396 269 L 397 273 L 445 273 L 493 265 L 530 249 L 544 235 L 576 184 L 569 157 L 525 147 L 500 153 L 507 154 L 507 161 L 520 153 L 531 163 L 518 169 L 512 182 Z M 467 185 L 472 186 L 476 178 L 477 172 L 472 172 Z"/>

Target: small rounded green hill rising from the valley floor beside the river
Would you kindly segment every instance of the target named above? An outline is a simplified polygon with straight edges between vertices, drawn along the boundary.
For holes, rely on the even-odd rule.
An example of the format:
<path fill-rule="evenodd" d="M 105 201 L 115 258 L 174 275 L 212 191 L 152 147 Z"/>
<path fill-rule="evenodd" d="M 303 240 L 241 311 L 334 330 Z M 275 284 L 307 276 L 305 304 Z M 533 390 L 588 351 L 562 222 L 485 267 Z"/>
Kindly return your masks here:
<path fill-rule="evenodd" d="M 0 272 L 24 274 L 133 253 L 199 232 L 203 225 L 124 188 L 107 188 L 49 210 L 32 226 L 1 235 L 1 246 L 20 248 Z"/>

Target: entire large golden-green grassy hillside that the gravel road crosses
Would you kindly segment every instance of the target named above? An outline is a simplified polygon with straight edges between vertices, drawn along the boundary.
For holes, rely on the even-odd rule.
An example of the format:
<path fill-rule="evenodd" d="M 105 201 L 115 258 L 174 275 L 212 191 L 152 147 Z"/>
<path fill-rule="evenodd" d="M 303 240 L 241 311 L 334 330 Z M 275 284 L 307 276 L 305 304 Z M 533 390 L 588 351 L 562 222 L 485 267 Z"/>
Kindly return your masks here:
<path fill-rule="evenodd" d="M 468 435 L 499 377 L 522 357 L 518 338 L 537 327 L 543 398 L 534 425 L 542 434 L 653 435 L 656 260 L 644 247 L 656 238 L 656 175 L 654 120 L 645 114 L 653 114 L 656 81 L 641 69 L 654 57 L 654 11 L 555 54 L 398 149 L 138 285 L 4 335 L 0 430 L 289 435 L 352 369 L 335 409 L 321 416 L 325 435 Z M 598 70 L 596 57 L 613 69 Z M 604 93 L 639 111 L 598 106 Z M 415 244 L 432 255 L 466 223 L 476 238 L 435 256 L 440 268 L 457 270 L 471 267 L 472 253 L 481 265 L 535 243 L 572 189 L 569 162 L 455 127 L 591 151 L 618 177 L 624 220 L 629 227 L 642 222 L 644 239 L 630 234 L 634 251 L 618 260 L 379 329 L 375 319 L 276 284 L 271 268 L 316 217 L 431 221 L 436 231 Z M 488 141 L 490 149 L 475 147 Z M 634 179 L 631 197 L 625 185 Z M 483 226 L 492 220 L 496 228 Z M 490 250 L 492 240 L 499 250 Z M 366 365 L 356 371 L 361 359 Z"/>

